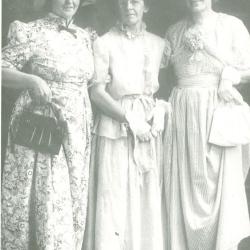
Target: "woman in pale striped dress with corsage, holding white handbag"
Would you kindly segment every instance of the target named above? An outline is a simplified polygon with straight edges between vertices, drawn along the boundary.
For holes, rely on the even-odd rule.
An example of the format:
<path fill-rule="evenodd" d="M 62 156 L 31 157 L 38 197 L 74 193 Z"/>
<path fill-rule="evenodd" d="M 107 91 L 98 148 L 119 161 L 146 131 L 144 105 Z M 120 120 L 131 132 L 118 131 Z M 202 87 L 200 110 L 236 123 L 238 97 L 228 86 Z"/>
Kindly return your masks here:
<path fill-rule="evenodd" d="M 167 249 L 237 249 L 250 235 L 244 186 L 249 145 L 230 145 L 230 136 L 224 146 L 209 142 L 216 139 L 211 125 L 219 105 L 244 109 L 249 119 L 234 85 L 250 79 L 250 37 L 241 20 L 214 12 L 211 0 L 186 4 L 187 17 L 166 35 L 177 78 L 164 149 Z M 223 126 L 233 131 L 233 124 Z"/>

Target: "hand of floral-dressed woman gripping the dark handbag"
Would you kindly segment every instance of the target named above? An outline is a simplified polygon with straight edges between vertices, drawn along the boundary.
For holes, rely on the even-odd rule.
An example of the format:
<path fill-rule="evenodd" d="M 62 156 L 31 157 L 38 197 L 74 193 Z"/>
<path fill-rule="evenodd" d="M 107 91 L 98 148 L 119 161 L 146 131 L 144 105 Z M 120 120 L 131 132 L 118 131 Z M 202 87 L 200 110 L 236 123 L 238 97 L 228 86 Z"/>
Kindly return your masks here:
<path fill-rule="evenodd" d="M 30 75 L 29 80 L 29 93 L 32 101 L 38 105 L 51 102 L 52 93 L 46 81 L 36 75 Z"/>

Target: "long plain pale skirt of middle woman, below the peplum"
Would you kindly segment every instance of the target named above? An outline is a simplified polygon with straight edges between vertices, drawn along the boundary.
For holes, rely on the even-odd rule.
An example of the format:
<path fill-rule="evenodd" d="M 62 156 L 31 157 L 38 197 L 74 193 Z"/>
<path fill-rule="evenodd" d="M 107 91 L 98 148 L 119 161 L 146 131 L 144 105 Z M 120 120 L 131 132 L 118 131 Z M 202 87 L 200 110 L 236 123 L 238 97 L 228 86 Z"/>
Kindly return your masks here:
<path fill-rule="evenodd" d="M 158 164 L 141 174 L 131 136 L 94 135 L 84 250 L 163 250 L 160 137 L 154 143 Z"/>

